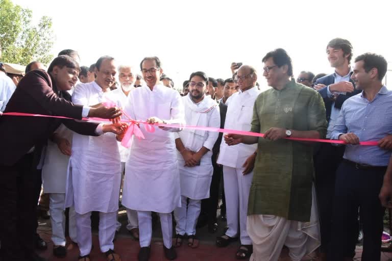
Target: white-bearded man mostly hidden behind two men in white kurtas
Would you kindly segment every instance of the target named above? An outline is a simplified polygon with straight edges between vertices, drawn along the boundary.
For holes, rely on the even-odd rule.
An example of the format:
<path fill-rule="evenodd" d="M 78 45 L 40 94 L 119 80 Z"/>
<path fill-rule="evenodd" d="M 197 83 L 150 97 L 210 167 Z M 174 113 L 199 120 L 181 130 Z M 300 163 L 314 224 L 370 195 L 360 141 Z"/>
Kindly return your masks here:
<path fill-rule="evenodd" d="M 120 83 L 120 88 L 112 91 L 112 94 L 118 98 L 119 106 L 121 108 L 125 107 L 127 102 L 127 97 L 130 91 L 134 90 L 134 84 L 136 81 L 136 71 L 130 65 L 120 65 L 118 66 L 118 81 Z M 121 180 L 124 178 L 125 163 L 128 159 L 129 148 L 122 146 L 118 143 L 118 149 L 120 151 L 121 158 Z M 137 212 L 135 210 L 130 210 L 127 208 L 128 225 L 127 229 L 132 234 L 132 237 L 139 240 L 139 225 L 137 223 Z M 117 221 L 117 231 L 120 230 L 121 223 Z"/>

